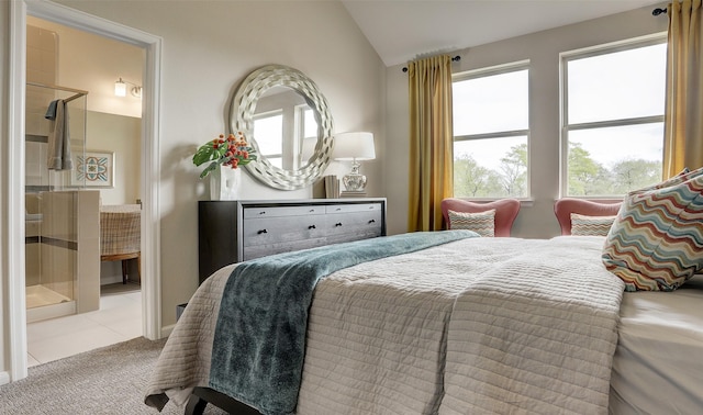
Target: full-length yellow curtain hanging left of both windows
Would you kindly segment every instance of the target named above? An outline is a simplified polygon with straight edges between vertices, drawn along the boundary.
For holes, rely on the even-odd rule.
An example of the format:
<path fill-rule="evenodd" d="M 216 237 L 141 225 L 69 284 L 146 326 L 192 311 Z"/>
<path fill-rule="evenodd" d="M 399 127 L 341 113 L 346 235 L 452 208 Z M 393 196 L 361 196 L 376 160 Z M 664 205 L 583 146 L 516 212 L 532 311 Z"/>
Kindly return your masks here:
<path fill-rule="evenodd" d="M 415 60 L 410 87 L 410 191 L 408 231 L 442 229 L 443 199 L 451 197 L 451 58 Z"/>

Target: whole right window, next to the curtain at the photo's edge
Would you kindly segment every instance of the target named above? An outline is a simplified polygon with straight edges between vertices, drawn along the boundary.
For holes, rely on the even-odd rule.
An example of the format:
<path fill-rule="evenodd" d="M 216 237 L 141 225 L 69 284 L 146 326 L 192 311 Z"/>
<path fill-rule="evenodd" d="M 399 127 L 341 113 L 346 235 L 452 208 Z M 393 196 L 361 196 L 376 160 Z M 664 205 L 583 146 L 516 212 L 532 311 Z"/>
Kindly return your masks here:
<path fill-rule="evenodd" d="M 623 195 L 660 181 L 666 38 L 561 59 L 561 193 Z"/>

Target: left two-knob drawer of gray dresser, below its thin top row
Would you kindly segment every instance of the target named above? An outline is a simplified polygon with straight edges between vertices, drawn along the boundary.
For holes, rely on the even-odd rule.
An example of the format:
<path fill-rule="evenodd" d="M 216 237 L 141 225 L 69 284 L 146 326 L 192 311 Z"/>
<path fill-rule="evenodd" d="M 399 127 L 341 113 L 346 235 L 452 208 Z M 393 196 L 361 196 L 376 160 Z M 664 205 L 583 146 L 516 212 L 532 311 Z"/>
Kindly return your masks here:
<path fill-rule="evenodd" d="M 244 247 L 281 243 L 290 244 L 303 239 L 324 237 L 324 215 L 305 215 L 244 220 L 242 244 Z"/>

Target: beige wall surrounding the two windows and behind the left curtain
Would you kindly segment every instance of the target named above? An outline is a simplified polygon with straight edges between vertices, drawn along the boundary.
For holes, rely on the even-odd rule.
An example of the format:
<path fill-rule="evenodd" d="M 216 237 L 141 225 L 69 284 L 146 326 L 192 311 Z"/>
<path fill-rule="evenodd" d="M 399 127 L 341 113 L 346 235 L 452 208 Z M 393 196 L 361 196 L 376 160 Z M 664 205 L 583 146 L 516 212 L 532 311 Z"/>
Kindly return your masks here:
<path fill-rule="evenodd" d="M 461 56 L 454 71 L 490 67 L 528 59 L 529 157 L 532 205 L 523 205 L 513 235 L 546 238 L 559 234 L 554 201 L 559 195 L 559 53 L 665 32 L 668 19 L 655 18 L 646 7 L 573 25 L 538 32 L 502 42 L 457 51 Z M 402 66 L 387 68 L 388 131 L 384 179 L 389 233 L 406 229 L 408 212 L 408 76 Z M 663 80 L 662 80 L 663 81 Z"/>

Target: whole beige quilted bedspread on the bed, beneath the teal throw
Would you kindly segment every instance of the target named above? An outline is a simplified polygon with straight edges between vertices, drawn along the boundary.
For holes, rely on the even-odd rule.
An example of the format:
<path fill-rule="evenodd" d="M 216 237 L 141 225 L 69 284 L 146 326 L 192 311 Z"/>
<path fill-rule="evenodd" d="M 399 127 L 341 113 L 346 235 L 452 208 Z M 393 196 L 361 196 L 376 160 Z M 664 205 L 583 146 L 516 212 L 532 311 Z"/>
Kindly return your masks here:
<path fill-rule="evenodd" d="M 328 276 L 310 311 L 298 413 L 607 413 L 623 284 L 601 263 L 602 240 L 469 238 Z M 231 271 L 189 302 L 150 404 L 207 386 Z"/>

